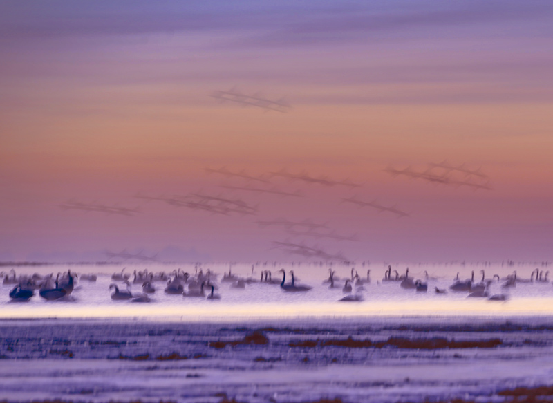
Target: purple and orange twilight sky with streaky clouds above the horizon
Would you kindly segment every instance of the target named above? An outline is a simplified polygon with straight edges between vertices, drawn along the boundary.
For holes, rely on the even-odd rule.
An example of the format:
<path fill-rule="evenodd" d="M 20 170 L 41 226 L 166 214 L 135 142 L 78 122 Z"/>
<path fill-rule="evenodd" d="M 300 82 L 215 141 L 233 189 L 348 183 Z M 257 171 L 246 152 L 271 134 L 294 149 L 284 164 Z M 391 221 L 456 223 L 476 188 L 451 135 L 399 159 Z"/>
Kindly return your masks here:
<path fill-rule="evenodd" d="M 552 48 L 545 0 L 2 1 L 0 261 L 551 260 Z"/>

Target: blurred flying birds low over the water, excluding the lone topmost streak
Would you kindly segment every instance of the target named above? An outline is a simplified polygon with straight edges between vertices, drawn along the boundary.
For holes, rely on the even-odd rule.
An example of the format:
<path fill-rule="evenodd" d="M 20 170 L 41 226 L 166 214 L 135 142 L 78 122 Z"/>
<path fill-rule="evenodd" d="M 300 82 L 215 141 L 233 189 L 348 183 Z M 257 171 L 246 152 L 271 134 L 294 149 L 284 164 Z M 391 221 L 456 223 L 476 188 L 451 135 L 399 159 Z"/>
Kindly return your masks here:
<path fill-rule="evenodd" d="M 328 176 L 311 176 L 307 172 L 292 173 L 286 169 L 280 171 L 269 172 L 265 176 L 252 176 L 245 171 L 231 171 L 225 167 L 220 169 L 214 169 L 210 167 L 204 168 L 207 174 L 217 174 L 225 176 L 225 178 L 240 178 L 245 180 L 247 185 L 220 185 L 223 189 L 230 191 L 241 191 L 256 194 L 273 194 L 275 196 L 281 196 L 285 198 L 301 198 L 305 197 L 301 191 L 285 191 L 278 189 L 274 186 L 272 180 L 274 178 L 284 178 L 288 181 L 303 182 L 308 185 L 319 185 L 322 187 L 346 187 L 348 189 L 356 189 L 362 185 L 351 182 L 348 179 L 334 180 Z M 409 178 L 420 178 L 437 185 L 449 185 L 449 186 L 467 186 L 473 189 L 491 189 L 489 185 L 489 178 L 483 174 L 480 169 L 472 170 L 465 167 L 465 165 L 453 166 L 449 165 L 446 161 L 440 163 L 431 163 L 426 170 L 415 171 L 410 167 L 405 169 L 395 169 L 388 167 L 384 169 L 392 176 L 407 176 Z M 252 185 L 252 182 L 255 185 Z M 171 207 L 185 207 L 188 209 L 194 209 L 196 211 L 207 212 L 209 214 L 216 215 L 241 215 L 241 216 L 257 216 L 260 209 L 259 204 L 253 205 L 247 203 L 242 198 L 225 196 L 221 194 L 205 194 L 200 192 L 191 192 L 189 194 L 173 194 L 171 196 L 149 196 L 145 194 L 135 194 L 134 198 L 140 200 L 146 200 L 147 202 L 160 202 L 170 205 Z M 290 201 L 289 203 L 292 203 Z M 341 198 L 339 204 L 343 205 L 348 203 L 357 207 L 368 207 L 375 209 L 379 213 L 393 214 L 397 218 L 409 217 L 410 214 L 404 210 L 398 208 L 396 205 L 382 205 L 377 203 L 376 199 L 363 200 L 359 196 L 351 196 L 349 198 Z M 119 214 L 124 216 L 133 216 L 141 212 L 140 207 L 122 207 L 119 205 L 104 205 L 98 203 L 81 203 L 74 200 L 68 201 L 60 205 L 64 210 L 76 209 L 84 212 L 100 212 L 104 214 Z M 315 223 L 310 219 L 303 221 L 290 221 L 285 218 L 277 218 L 272 221 L 256 221 L 259 227 L 281 227 L 289 237 L 303 237 L 328 239 L 332 241 L 359 241 L 357 234 L 347 235 L 339 234 L 336 229 L 332 229 L 328 226 L 328 223 Z M 341 253 L 328 253 L 322 249 L 319 245 L 309 245 L 306 241 L 299 243 L 292 242 L 289 239 L 284 241 L 274 241 L 271 249 L 279 249 L 288 254 L 295 254 L 306 258 L 316 258 L 330 261 L 349 262 L 349 259 Z M 106 253 L 110 258 L 120 259 L 141 259 L 144 257 L 140 254 L 129 254 L 128 252 L 121 252 L 115 254 L 114 252 Z"/>

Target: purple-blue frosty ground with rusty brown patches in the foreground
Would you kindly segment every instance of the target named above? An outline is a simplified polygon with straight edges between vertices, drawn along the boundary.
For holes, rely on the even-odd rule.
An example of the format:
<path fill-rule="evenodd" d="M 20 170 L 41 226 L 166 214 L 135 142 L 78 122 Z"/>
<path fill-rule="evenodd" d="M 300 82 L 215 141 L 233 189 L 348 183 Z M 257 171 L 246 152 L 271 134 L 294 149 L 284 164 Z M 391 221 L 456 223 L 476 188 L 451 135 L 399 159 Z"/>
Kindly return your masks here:
<path fill-rule="evenodd" d="M 0 397 L 503 401 L 553 379 L 550 318 L 0 321 Z M 1 400 L 1 399 L 0 399 Z"/>

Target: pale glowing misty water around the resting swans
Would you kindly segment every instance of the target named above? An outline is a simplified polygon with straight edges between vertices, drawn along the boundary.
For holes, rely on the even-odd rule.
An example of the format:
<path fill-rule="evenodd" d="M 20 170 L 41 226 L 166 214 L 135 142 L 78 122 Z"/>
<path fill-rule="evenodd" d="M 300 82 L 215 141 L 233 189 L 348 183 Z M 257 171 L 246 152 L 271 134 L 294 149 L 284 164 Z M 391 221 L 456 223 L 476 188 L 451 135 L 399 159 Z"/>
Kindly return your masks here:
<path fill-rule="evenodd" d="M 253 266 L 253 272 L 252 272 Z M 250 320 L 264 317 L 371 317 L 371 316 L 508 316 L 508 315 L 551 315 L 553 308 L 553 286 L 548 281 L 529 280 L 535 264 L 508 266 L 496 264 L 404 264 L 391 265 L 393 270 L 404 274 L 409 268 L 409 277 L 413 281 L 420 279 L 428 285 L 427 292 L 416 292 L 413 289 L 403 289 L 400 281 L 382 281 L 387 270 L 384 263 L 377 264 L 332 264 L 320 263 L 203 263 L 203 264 L 129 264 L 129 265 L 44 265 L 38 267 L 15 268 L 18 274 L 31 275 L 35 272 L 64 272 L 71 270 L 77 274 L 97 274 L 97 281 L 89 282 L 78 280 L 73 293 L 59 301 L 46 301 L 35 295 L 26 303 L 9 301 L 8 292 L 13 285 L 1 285 L 3 309 L 0 316 L 10 317 L 144 317 L 149 319 L 179 319 L 201 321 L 203 319 L 230 319 Z M 182 270 L 194 275 L 198 270 L 204 273 L 209 269 L 214 274 L 216 293 L 221 295 L 218 301 L 208 301 L 205 298 L 183 298 L 181 294 L 166 294 L 165 281 L 156 281 L 153 286 L 156 292 L 151 294 L 149 303 L 132 303 L 130 301 L 113 301 L 110 297 L 113 290 L 109 285 L 116 283 L 121 289 L 126 285 L 121 281 L 113 281 L 113 273 L 124 272 L 129 274 L 131 292 L 141 293 L 142 282 L 133 283 L 133 272 L 144 269 L 149 272 L 165 272 L 170 274 L 174 270 Z M 234 288 L 232 283 L 221 283 L 223 275 L 228 274 L 229 268 L 237 279 L 245 279 L 245 288 Z M 309 285 L 308 292 L 283 292 L 279 287 L 282 274 L 286 272 L 286 283 L 290 283 L 290 270 L 294 271 L 296 283 Z M 329 288 L 329 268 L 335 274 L 335 288 Z M 362 288 L 353 288 L 353 292 L 342 290 L 346 279 L 351 279 L 352 268 L 354 274 L 359 274 L 365 283 Z M 547 267 L 538 266 L 543 274 Z M 520 282 L 515 287 L 505 288 L 505 278 L 512 276 L 516 269 Z M 261 282 L 261 272 L 270 270 L 274 284 Z M 366 282 L 367 271 L 370 282 Z M 484 273 L 482 273 L 482 270 Z M 5 270 L 8 272 L 8 270 Z M 425 273 L 426 272 L 426 273 Z M 505 294 L 507 301 L 487 301 L 487 299 L 467 298 L 469 292 L 455 292 L 449 290 L 454 279 L 471 279 L 474 272 L 474 283 L 478 283 L 482 274 L 486 279 L 497 277 L 489 285 L 489 296 Z M 428 278 L 427 278 L 428 274 Z M 217 280 L 215 280 L 217 279 Z M 263 277 L 264 279 L 264 277 Z M 248 283 L 248 280 L 250 281 Z M 435 288 L 446 290 L 444 294 L 437 294 Z M 185 288 L 186 291 L 186 288 Z M 205 295 L 210 292 L 206 286 Z M 349 294 L 362 296 L 363 301 L 344 303 L 339 299 Z"/>

